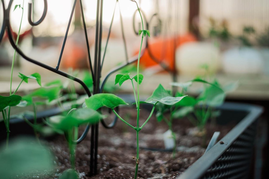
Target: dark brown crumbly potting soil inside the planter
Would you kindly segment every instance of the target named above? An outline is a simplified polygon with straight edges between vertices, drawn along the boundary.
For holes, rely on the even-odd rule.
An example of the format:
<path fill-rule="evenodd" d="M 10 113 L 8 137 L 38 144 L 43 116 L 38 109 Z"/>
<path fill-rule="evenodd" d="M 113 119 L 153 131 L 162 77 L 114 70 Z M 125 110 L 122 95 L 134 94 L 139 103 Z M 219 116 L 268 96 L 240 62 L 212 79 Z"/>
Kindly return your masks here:
<path fill-rule="evenodd" d="M 126 121 L 136 126 L 136 110 L 123 108 L 119 112 Z M 148 117 L 146 109 L 140 111 L 140 126 Z M 114 116 L 111 115 L 112 119 Z M 109 120 L 108 119 L 108 123 Z M 177 137 L 177 149 L 175 157 L 172 152 L 153 151 L 146 148 L 164 149 L 163 133 L 168 130 L 164 122 L 157 122 L 153 115 L 149 122 L 139 133 L 140 160 L 138 176 L 140 179 L 173 179 L 179 176 L 192 163 L 200 158 L 205 148 L 201 147 L 202 137 L 195 135 L 197 129 L 187 119 L 173 121 L 173 130 Z M 209 143 L 213 133 L 220 131 L 218 139 L 221 139 L 236 124 L 206 125 L 206 144 Z M 80 129 L 82 133 L 83 129 Z M 136 156 L 136 132 L 122 121 L 118 121 L 112 129 L 105 129 L 101 124 L 99 127 L 98 148 L 98 174 L 89 177 L 90 163 L 90 132 L 84 141 L 77 145 L 76 169 L 81 179 L 131 179 L 135 174 Z M 69 151 L 64 136 L 56 136 L 51 140 L 44 141 L 56 156 L 56 170 L 53 174 L 27 176 L 39 179 L 57 179 L 65 169 L 71 168 Z M 26 179 L 26 178 L 25 178 Z"/>

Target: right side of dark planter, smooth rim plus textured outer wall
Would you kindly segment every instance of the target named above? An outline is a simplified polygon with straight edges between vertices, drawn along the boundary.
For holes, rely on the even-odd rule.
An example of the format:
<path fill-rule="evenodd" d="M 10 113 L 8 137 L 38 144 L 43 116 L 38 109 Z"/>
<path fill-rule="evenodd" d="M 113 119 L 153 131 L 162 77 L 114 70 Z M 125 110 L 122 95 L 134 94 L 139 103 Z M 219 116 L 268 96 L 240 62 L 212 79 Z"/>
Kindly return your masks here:
<path fill-rule="evenodd" d="M 236 113 L 230 113 L 227 121 L 231 118 L 242 120 L 220 140 L 221 142 L 216 143 L 177 179 L 249 178 L 254 157 L 257 119 L 263 109 L 236 103 L 225 103 L 219 109 L 241 111 L 245 116 L 242 119 L 235 116 Z"/>

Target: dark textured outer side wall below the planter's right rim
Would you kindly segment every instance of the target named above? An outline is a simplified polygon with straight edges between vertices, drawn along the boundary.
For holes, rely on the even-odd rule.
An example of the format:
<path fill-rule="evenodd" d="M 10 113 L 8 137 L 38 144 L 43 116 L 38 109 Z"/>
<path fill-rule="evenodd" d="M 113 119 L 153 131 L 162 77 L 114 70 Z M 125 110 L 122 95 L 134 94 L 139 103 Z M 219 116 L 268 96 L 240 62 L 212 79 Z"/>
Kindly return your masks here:
<path fill-rule="evenodd" d="M 201 179 L 248 178 L 256 136 L 256 126 L 257 122 L 254 122 L 239 135 Z"/>

